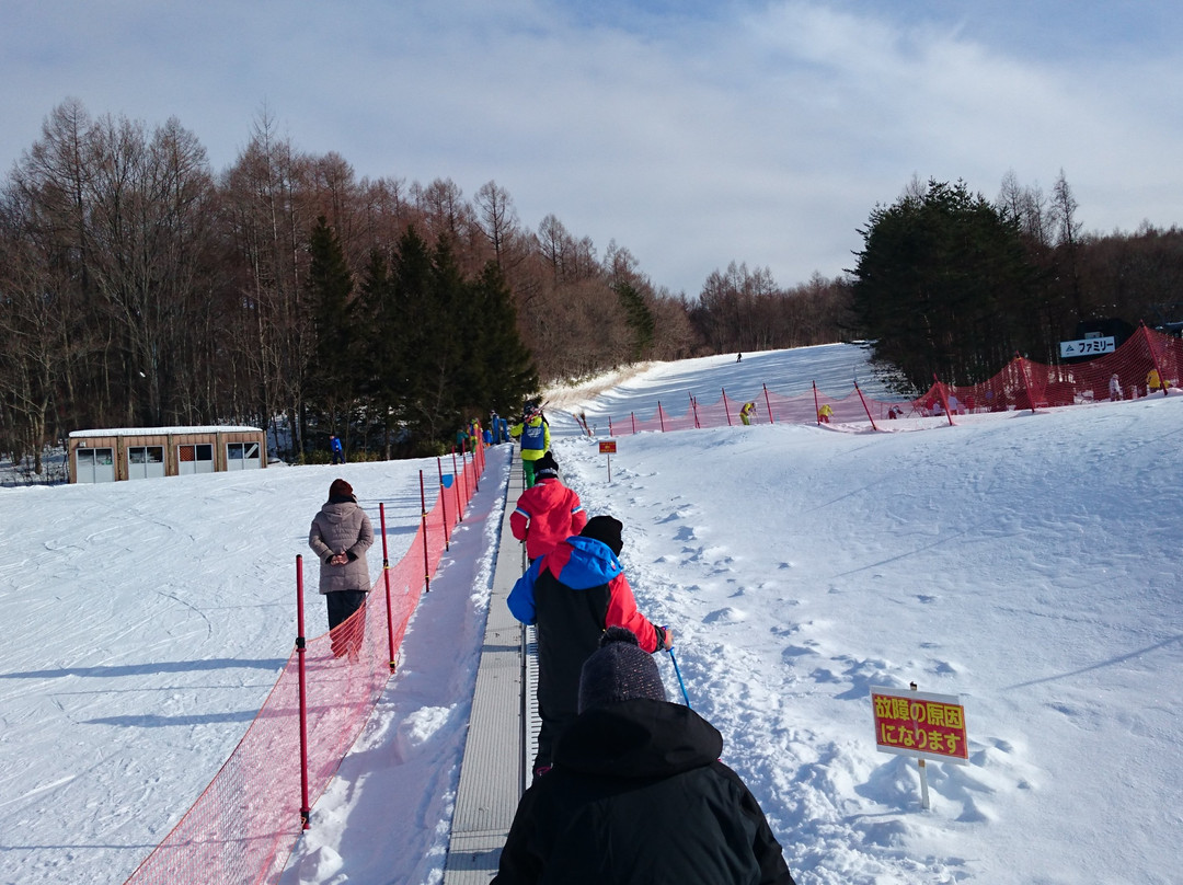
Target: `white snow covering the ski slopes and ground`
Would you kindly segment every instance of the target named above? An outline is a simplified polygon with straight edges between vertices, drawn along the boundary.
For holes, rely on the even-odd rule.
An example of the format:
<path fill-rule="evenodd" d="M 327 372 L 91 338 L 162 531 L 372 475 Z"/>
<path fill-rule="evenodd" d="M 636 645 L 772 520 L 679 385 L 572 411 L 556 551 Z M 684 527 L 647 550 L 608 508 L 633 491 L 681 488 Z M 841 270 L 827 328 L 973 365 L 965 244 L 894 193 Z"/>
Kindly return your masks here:
<path fill-rule="evenodd" d="M 548 412 L 564 479 L 625 522 L 640 606 L 673 627 L 789 867 L 803 885 L 1178 881 L 1183 396 L 621 437 L 610 483 L 567 414 L 775 373 L 840 394 L 861 364 L 835 347 L 658 364 Z M 0 881 L 123 881 L 291 650 L 292 563 L 329 482 L 387 502 L 395 558 L 420 466 L 0 489 Z M 504 487 L 481 485 L 286 885 L 441 879 Z M 965 705 L 970 764 L 930 763 L 930 810 L 914 761 L 874 745 L 868 686 L 910 681 Z"/>

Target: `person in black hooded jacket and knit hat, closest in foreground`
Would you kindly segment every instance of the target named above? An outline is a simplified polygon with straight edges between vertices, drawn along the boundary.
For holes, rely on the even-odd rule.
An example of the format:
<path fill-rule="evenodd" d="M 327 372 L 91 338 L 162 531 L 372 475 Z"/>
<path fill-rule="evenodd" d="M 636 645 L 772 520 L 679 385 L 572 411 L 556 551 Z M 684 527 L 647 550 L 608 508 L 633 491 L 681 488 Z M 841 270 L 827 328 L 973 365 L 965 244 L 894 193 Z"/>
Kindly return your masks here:
<path fill-rule="evenodd" d="M 580 715 L 522 796 L 496 885 L 795 885 L 723 737 L 667 703 L 652 657 L 609 627 L 583 665 Z"/>

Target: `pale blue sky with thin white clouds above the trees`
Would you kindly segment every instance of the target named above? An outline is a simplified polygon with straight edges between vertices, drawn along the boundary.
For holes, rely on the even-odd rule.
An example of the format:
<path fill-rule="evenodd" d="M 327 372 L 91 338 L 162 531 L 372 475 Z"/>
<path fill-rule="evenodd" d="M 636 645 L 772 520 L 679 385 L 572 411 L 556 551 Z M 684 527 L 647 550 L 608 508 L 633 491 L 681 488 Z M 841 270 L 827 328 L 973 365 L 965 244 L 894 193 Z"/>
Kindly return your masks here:
<path fill-rule="evenodd" d="M 358 176 L 490 180 L 697 295 L 853 266 L 913 176 L 1062 169 L 1086 231 L 1183 224 L 1177 2 L 0 0 L 0 168 L 66 97 L 230 166 L 266 106 Z"/>

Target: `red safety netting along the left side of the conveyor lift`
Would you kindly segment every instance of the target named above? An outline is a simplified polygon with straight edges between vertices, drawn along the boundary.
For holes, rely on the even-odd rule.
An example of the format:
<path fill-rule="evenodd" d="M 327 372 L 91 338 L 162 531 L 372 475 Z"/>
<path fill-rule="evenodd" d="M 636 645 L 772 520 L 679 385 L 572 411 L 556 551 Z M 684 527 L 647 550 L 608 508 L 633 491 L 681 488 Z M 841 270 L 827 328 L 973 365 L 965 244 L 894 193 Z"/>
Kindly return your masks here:
<path fill-rule="evenodd" d="M 308 641 L 303 653 L 308 794 L 323 794 L 394 672 L 407 622 L 431 589 L 451 525 L 463 515 L 484 470 L 484 452 L 439 480 L 406 555 L 386 566 L 367 605 Z M 452 471 L 448 471 L 448 476 Z M 422 483 L 422 480 L 421 480 Z M 180 822 L 127 885 L 276 883 L 304 820 L 300 773 L 300 653 L 292 652 L 246 735 Z"/>

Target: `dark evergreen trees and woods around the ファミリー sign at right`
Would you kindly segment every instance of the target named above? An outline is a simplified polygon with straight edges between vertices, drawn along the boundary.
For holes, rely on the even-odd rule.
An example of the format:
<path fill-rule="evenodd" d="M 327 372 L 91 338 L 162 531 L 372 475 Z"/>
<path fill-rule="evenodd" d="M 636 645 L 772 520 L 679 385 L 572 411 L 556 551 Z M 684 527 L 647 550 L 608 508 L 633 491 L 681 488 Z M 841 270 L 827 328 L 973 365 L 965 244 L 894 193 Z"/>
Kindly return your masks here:
<path fill-rule="evenodd" d="M 1090 323 L 1183 319 L 1183 231 L 1090 234 L 1078 209 L 1061 170 L 1049 194 L 1008 173 L 993 201 L 963 181 L 913 181 L 871 212 L 853 315 L 901 392 L 980 383 L 1015 354 L 1055 364 Z"/>

